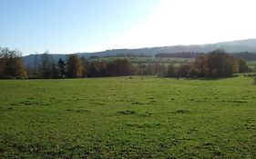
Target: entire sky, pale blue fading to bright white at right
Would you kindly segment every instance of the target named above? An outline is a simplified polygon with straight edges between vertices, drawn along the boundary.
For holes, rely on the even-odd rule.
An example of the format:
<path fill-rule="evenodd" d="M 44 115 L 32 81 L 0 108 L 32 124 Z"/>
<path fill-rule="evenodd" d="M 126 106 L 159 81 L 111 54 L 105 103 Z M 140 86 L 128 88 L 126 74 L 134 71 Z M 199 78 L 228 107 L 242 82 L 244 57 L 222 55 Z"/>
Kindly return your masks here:
<path fill-rule="evenodd" d="M 0 46 L 23 55 L 256 38 L 255 0 L 0 0 Z"/>

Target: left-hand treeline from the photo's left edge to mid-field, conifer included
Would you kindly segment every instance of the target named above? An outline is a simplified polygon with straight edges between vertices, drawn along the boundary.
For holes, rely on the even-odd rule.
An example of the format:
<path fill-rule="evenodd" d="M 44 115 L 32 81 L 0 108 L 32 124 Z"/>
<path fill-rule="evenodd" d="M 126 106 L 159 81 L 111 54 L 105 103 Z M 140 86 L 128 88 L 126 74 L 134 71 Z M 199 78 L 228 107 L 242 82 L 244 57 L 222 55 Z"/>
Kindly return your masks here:
<path fill-rule="evenodd" d="M 136 68 L 128 59 L 116 59 L 106 63 L 104 61 L 88 62 L 77 55 L 68 55 L 67 60 L 61 58 L 57 63 L 53 56 L 46 51 L 41 55 L 39 63 L 24 66 L 21 53 L 17 50 L 0 48 L 0 78 L 81 78 L 136 75 Z"/>

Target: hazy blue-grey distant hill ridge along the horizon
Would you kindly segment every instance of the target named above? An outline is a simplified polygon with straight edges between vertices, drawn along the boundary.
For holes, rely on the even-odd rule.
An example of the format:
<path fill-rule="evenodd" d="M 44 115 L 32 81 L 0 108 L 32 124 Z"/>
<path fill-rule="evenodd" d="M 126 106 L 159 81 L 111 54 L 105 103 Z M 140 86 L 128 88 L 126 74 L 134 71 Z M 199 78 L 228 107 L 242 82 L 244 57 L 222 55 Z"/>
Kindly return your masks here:
<path fill-rule="evenodd" d="M 173 45 L 162 47 L 138 48 L 138 49 L 113 49 L 95 53 L 77 53 L 80 57 L 103 57 L 114 55 L 147 55 L 154 56 L 162 53 L 208 53 L 216 49 L 224 49 L 228 53 L 250 52 L 256 53 L 256 39 L 237 40 L 206 45 Z M 41 55 L 26 55 L 23 57 L 26 66 L 39 63 Z M 53 55 L 56 62 L 59 58 L 67 59 L 67 55 Z"/>

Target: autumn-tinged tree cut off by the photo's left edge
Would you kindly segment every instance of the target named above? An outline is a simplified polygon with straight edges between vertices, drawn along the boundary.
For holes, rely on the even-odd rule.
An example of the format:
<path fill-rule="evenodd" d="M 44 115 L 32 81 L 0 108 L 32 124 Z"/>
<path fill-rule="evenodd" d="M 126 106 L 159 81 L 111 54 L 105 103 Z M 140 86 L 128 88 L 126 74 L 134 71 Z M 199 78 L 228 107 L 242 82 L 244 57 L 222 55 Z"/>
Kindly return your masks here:
<path fill-rule="evenodd" d="M 0 48 L 0 78 L 26 78 L 21 52 Z"/>

